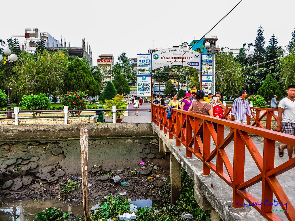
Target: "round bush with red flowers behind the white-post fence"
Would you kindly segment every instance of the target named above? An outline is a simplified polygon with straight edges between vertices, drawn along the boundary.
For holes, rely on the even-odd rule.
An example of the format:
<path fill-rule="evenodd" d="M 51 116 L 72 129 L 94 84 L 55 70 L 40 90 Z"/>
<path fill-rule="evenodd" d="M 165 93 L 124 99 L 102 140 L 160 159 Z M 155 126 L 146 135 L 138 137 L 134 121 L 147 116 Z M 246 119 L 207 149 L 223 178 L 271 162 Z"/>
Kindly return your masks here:
<path fill-rule="evenodd" d="M 68 91 L 66 94 L 60 95 L 61 109 L 68 106 L 69 110 L 84 110 L 86 109 L 87 91 Z M 76 117 L 80 115 L 81 111 L 70 111 L 71 115 Z"/>

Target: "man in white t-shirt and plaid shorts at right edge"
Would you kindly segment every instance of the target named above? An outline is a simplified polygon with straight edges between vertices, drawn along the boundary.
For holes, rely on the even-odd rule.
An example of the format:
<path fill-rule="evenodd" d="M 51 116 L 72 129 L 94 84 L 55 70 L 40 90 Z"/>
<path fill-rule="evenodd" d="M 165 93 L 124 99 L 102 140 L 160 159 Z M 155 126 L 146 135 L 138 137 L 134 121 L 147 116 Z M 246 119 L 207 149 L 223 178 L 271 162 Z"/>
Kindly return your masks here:
<path fill-rule="evenodd" d="M 278 104 L 278 124 L 275 131 L 283 131 L 295 136 L 295 85 L 289 85 L 287 88 L 288 96 L 283 98 Z M 289 160 L 293 158 L 293 146 L 280 145 L 279 156 L 284 156 L 284 149 L 288 150 Z"/>

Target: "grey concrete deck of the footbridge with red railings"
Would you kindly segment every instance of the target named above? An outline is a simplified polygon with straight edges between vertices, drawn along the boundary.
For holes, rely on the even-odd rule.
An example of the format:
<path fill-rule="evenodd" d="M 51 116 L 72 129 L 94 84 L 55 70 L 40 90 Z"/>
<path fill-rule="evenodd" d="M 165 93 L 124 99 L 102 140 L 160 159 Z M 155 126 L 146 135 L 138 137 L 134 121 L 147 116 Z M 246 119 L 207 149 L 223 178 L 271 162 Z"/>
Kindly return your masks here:
<path fill-rule="evenodd" d="M 239 209 L 234 209 L 232 207 L 232 188 L 228 186 L 220 177 L 218 177 L 214 172 L 211 172 L 209 176 L 203 176 L 203 163 L 198 161 L 193 155 L 191 158 L 186 157 L 186 147 L 181 144 L 180 147 L 176 146 L 176 139 L 169 139 L 168 134 L 164 134 L 163 130 L 160 130 L 157 125 L 152 123 L 154 131 L 163 140 L 168 149 L 173 153 L 178 162 L 183 166 L 188 174 L 194 181 L 199 182 L 201 185 L 201 191 L 208 199 L 210 204 L 219 213 L 223 220 L 266 220 L 261 216 L 253 207 L 244 206 Z M 229 134 L 229 130 L 224 130 L 224 137 Z M 260 154 L 263 156 L 263 141 L 259 140 L 260 137 L 251 137 L 255 146 L 257 147 Z M 211 138 L 211 151 L 215 148 L 214 142 Z M 225 148 L 225 151 L 229 157 L 231 164 L 233 165 L 233 141 Z M 283 164 L 288 160 L 288 156 L 285 150 L 283 158 L 280 158 L 276 152 L 275 155 L 275 167 Z M 216 164 L 216 157 L 212 160 L 212 163 Z M 224 172 L 227 173 L 225 167 Z M 260 174 L 258 167 L 256 166 L 253 158 L 248 152 L 247 148 L 245 151 L 245 180 L 248 180 L 256 175 Z M 294 169 L 286 171 L 285 173 L 278 175 L 277 179 L 282 185 L 284 191 L 289 197 L 292 204 L 295 202 L 294 194 Z M 213 188 L 212 188 L 212 185 Z M 262 182 L 247 188 L 255 198 L 261 201 L 261 189 Z M 275 196 L 273 199 L 278 201 Z M 248 205 L 248 202 L 245 202 Z M 273 206 L 274 210 L 282 210 L 281 206 L 278 204 L 276 207 Z M 282 220 L 288 220 L 284 212 L 275 213 Z M 254 218 L 255 217 L 255 218 Z"/>

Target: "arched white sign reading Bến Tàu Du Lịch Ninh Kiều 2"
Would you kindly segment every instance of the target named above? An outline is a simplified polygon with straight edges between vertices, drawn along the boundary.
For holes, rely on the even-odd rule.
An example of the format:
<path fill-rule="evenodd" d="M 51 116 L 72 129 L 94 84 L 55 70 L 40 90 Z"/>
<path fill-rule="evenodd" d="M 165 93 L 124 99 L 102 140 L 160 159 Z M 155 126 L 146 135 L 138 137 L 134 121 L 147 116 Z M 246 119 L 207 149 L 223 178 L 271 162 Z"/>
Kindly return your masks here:
<path fill-rule="evenodd" d="M 201 54 L 183 48 L 167 48 L 153 53 L 153 70 L 159 67 L 179 65 L 201 70 Z M 186 52 L 186 53 L 185 53 Z M 185 54 L 184 54 L 185 53 Z"/>

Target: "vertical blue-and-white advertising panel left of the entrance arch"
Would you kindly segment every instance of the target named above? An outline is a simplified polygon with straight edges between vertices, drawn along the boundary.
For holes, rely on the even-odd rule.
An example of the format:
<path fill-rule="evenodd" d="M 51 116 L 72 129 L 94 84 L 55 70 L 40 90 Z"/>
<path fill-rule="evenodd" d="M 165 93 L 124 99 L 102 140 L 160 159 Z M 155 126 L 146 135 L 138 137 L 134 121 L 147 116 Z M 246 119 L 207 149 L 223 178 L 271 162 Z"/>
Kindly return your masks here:
<path fill-rule="evenodd" d="M 152 70 L 150 54 L 137 55 L 137 96 L 152 96 Z"/>

